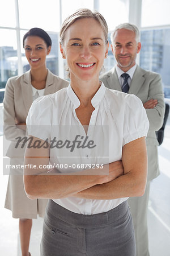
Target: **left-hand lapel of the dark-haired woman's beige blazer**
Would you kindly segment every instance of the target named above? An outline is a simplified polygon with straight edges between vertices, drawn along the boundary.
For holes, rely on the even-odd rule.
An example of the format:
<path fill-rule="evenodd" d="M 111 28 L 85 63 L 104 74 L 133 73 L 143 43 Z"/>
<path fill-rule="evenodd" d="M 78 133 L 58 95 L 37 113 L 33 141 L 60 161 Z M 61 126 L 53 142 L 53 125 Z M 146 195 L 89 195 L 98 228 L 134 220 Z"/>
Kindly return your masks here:
<path fill-rule="evenodd" d="M 31 88 L 31 73 L 30 71 L 24 73 L 23 79 L 21 80 L 22 96 L 25 105 L 25 109 L 28 113 L 29 108 L 32 104 L 32 88 Z"/>

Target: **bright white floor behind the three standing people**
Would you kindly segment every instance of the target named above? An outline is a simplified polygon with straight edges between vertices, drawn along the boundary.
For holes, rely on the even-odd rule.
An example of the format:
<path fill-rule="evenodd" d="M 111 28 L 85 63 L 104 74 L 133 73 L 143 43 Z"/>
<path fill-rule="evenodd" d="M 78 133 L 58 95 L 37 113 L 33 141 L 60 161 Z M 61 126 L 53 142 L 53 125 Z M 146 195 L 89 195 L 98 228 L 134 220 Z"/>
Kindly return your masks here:
<path fill-rule="evenodd" d="M 0 137 L 2 145 L 2 136 Z M 150 256 L 170 255 L 170 123 L 165 130 L 164 142 L 159 146 L 161 174 L 152 181 L 148 207 L 148 232 Z M 2 149 L 0 150 L 2 159 Z M 1 160 L 2 170 L 2 160 Z M 18 219 L 3 208 L 8 176 L 0 174 L 0 255 L 21 256 Z M 32 256 L 39 256 L 42 218 L 33 220 L 30 249 Z"/>

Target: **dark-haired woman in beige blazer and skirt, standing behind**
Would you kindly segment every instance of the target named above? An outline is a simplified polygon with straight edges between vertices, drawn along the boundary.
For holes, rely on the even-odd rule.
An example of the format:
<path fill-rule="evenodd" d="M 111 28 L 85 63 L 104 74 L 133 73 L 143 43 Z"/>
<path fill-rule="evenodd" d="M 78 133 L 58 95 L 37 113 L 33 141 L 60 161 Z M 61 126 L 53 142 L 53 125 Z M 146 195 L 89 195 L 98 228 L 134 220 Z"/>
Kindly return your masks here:
<path fill-rule="evenodd" d="M 44 30 L 31 28 L 24 35 L 23 47 L 31 69 L 22 76 L 12 77 L 7 81 L 3 100 L 4 134 L 11 141 L 7 156 L 11 158 L 13 165 L 23 164 L 24 151 L 19 152 L 14 147 L 14 141 L 18 136 L 25 136 L 25 120 L 32 102 L 39 96 L 54 93 L 68 85 L 67 81 L 53 75 L 46 68 L 46 55 L 50 53 L 52 40 Z M 23 169 L 12 170 L 5 208 L 12 211 L 12 217 L 19 218 L 22 256 L 31 255 L 28 249 L 32 218 L 37 218 L 37 214 L 44 217 L 46 203 L 46 199 L 28 199 L 24 191 Z"/>

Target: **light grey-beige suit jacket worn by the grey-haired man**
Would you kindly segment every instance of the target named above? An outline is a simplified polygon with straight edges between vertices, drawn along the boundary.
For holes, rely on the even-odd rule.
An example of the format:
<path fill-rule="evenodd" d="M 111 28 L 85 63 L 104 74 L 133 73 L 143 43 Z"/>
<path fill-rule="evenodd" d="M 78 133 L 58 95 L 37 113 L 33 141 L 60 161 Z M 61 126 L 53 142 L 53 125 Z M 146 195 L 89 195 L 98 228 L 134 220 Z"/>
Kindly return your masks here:
<path fill-rule="evenodd" d="M 102 75 L 100 80 L 110 89 L 122 90 L 115 68 Z M 150 129 L 146 138 L 148 180 L 152 180 L 159 175 L 158 141 L 155 131 L 158 131 L 160 127 L 162 127 L 165 112 L 164 93 L 160 75 L 146 71 L 137 65 L 130 83 L 129 93 L 138 96 L 143 103 L 151 98 L 158 100 L 158 105 L 156 105 L 154 109 L 146 109 L 147 117 L 150 122 Z"/>

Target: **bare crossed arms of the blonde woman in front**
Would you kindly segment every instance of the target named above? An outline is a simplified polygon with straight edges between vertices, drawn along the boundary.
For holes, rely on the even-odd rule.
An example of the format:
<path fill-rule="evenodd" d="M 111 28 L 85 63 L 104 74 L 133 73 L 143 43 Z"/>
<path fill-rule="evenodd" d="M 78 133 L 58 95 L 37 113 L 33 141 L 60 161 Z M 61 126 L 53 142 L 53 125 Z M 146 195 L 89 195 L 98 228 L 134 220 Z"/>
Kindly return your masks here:
<path fill-rule="evenodd" d="M 37 140 L 36 137 L 33 140 Z M 43 142 L 43 141 L 42 141 Z M 33 156 L 35 156 L 33 158 Z M 27 148 L 25 166 L 48 165 L 49 148 Z M 30 172 L 31 171 L 31 172 Z M 41 171 L 41 173 L 40 173 Z M 84 199 L 109 200 L 120 197 L 142 196 L 147 178 L 147 151 L 145 138 L 125 144 L 122 161 L 109 163 L 109 174 L 95 174 L 95 169 L 73 175 L 48 175 L 48 170 L 24 169 L 25 192 L 29 199 L 59 199 L 69 196 Z M 90 172 L 90 174 L 89 174 Z"/>

